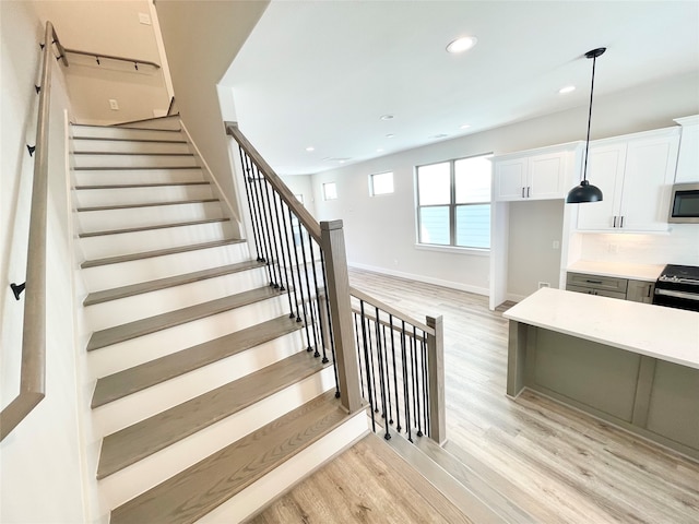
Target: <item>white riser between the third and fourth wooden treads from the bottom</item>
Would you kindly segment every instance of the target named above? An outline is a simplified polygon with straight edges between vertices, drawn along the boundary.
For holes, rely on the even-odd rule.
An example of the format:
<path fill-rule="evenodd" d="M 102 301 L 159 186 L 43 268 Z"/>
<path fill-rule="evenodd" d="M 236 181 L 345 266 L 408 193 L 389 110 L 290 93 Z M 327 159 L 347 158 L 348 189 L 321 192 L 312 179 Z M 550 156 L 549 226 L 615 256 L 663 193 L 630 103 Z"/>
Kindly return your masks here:
<path fill-rule="evenodd" d="M 106 377 L 282 314 L 288 314 L 285 295 L 95 349 L 87 355 L 92 378 Z"/>

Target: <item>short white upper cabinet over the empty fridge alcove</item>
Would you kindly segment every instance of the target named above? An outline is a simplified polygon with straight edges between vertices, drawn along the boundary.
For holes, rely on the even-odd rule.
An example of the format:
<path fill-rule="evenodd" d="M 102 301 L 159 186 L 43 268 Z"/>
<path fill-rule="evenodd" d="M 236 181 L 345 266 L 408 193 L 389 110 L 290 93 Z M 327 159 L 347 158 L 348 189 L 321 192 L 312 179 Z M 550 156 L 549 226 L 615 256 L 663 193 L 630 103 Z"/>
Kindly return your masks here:
<path fill-rule="evenodd" d="M 494 199 L 562 199 L 577 178 L 576 152 L 580 144 L 546 147 L 495 158 Z"/>

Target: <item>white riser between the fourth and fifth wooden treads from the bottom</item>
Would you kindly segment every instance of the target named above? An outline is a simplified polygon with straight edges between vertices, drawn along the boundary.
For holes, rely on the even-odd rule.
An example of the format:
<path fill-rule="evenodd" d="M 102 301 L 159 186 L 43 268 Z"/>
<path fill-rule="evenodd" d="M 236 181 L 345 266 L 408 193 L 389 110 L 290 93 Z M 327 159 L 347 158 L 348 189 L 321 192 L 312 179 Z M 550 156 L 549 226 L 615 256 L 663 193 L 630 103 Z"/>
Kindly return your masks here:
<path fill-rule="evenodd" d="M 99 331 L 265 285 L 264 269 L 242 271 L 87 306 L 85 318 L 92 331 Z"/>

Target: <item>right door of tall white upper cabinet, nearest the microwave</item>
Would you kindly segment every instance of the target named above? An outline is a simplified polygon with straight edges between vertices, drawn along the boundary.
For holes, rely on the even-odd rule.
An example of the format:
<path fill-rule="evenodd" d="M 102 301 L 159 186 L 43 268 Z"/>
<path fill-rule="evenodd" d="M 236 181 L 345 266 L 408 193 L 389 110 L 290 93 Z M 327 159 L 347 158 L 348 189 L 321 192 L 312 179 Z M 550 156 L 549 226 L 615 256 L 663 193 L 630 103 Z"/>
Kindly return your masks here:
<path fill-rule="evenodd" d="M 623 229 L 667 229 L 667 210 L 675 178 L 677 146 L 676 135 L 629 142 L 619 212 Z"/>

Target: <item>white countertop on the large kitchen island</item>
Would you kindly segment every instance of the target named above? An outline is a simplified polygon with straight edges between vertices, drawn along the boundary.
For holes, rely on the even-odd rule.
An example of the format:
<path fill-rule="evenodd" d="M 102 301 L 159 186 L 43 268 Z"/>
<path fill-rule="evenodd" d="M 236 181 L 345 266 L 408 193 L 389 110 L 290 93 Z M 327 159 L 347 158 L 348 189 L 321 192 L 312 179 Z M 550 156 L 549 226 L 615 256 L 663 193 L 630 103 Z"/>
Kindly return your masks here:
<path fill-rule="evenodd" d="M 502 317 L 699 369 L 699 312 L 542 288 Z"/>

